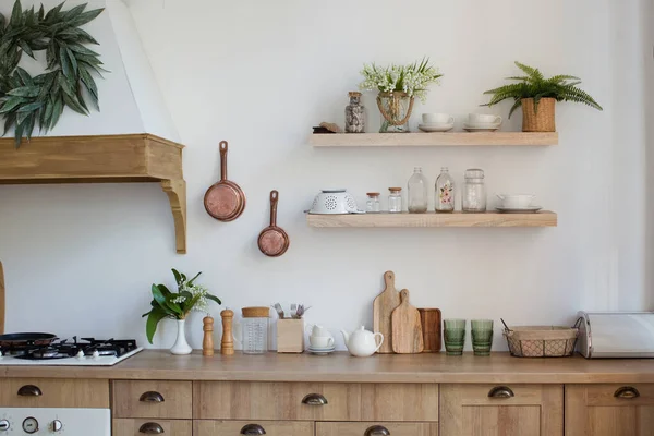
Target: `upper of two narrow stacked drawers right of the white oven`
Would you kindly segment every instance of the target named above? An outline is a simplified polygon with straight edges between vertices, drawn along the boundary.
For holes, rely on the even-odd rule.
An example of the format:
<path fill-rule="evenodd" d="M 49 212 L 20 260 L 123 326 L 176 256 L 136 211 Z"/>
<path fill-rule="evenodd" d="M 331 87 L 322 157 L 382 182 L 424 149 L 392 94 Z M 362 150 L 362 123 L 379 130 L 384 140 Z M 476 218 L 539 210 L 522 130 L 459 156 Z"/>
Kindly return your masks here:
<path fill-rule="evenodd" d="M 114 417 L 193 417 L 191 382 L 113 382 Z"/>

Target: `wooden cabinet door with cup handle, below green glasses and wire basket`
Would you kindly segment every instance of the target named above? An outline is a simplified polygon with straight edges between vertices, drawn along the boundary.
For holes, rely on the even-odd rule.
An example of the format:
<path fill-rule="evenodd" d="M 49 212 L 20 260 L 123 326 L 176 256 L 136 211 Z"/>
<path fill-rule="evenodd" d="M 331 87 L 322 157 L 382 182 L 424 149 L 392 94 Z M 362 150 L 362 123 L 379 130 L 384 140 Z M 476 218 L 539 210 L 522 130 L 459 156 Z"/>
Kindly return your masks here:
<path fill-rule="evenodd" d="M 562 436 L 561 385 L 440 385 L 441 436 Z"/>

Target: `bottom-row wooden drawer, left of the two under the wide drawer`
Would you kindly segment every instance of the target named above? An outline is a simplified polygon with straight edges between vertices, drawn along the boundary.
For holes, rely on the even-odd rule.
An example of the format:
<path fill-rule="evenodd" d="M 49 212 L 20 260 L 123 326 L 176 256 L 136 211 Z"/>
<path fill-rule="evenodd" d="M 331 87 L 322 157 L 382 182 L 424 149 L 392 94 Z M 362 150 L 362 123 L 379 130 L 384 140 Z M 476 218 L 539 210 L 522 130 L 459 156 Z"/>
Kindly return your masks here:
<path fill-rule="evenodd" d="M 251 432 L 251 433 L 249 433 Z M 257 432 L 257 433 L 255 433 Z M 265 432 L 265 433 L 262 433 Z M 314 436 L 314 424 L 302 421 L 194 421 L 194 436 Z"/>

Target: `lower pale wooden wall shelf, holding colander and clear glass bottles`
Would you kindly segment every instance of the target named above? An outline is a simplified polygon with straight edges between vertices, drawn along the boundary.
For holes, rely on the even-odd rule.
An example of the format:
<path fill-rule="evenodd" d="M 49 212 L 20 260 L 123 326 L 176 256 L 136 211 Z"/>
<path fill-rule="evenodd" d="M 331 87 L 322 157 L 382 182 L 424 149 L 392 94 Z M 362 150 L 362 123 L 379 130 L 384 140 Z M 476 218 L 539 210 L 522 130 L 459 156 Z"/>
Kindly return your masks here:
<path fill-rule="evenodd" d="M 306 215 L 310 227 L 556 227 L 557 215 L 543 210 L 538 214 L 352 214 Z"/>

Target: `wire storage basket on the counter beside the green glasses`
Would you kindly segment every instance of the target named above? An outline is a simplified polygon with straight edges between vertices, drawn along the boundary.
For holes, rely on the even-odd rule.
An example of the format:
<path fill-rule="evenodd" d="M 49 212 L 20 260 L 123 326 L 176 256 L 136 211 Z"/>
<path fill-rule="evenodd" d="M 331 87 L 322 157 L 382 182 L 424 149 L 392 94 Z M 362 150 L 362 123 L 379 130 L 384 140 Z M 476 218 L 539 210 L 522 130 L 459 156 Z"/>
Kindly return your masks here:
<path fill-rule="evenodd" d="M 505 325 L 509 352 L 516 358 L 567 358 L 574 353 L 578 324 L 573 327 Z"/>

